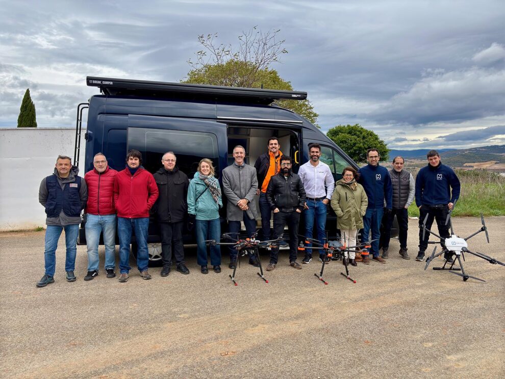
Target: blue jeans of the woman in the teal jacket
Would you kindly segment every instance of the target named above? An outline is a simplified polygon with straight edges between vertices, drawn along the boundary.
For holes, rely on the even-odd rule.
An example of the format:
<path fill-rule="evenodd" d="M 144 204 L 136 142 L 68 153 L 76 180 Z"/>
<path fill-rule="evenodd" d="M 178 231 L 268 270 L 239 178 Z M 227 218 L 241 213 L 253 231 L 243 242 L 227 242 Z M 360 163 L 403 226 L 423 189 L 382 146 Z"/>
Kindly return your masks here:
<path fill-rule="evenodd" d="M 207 245 L 205 240 L 220 241 L 221 223 L 219 217 L 215 220 L 195 220 L 196 231 L 196 262 L 199 266 L 207 266 Z M 221 247 L 210 245 L 211 265 L 221 265 Z"/>

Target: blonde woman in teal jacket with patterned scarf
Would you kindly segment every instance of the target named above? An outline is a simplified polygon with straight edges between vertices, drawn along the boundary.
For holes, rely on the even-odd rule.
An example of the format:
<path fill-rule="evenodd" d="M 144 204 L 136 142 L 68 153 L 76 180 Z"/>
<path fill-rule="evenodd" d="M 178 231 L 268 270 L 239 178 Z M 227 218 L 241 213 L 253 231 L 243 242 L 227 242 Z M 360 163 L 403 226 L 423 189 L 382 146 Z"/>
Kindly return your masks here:
<path fill-rule="evenodd" d="M 223 206 L 219 181 L 210 159 L 204 158 L 198 164 L 198 171 L 189 183 L 188 213 L 195 218 L 196 260 L 201 266 L 201 273 L 209 273 L 207 268 L 207 245 L 205 240 L 216 240 L 221 237 L 219 208 Z M 221 272 L 221 248 L 210 246 L 211 265 L 214 272 Z"/>

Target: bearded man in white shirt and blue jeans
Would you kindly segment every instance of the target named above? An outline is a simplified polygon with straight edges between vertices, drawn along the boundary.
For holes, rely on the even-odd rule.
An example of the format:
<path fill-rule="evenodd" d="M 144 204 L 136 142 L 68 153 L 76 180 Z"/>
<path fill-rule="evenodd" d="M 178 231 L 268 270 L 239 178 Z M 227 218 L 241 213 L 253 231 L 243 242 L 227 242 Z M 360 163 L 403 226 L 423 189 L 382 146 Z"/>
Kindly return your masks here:
<path fill-rule="evenodd" d="M 325 239 L 326 228 L 326 206 L 330 203 L 335 181 L 333 179 L 330 166 L 319 160 L 321 156 L 321 146 L 318 143 L 309 145 L 309 162 L 300 166 L 298 175 L 304 183 L 307 193 L 307 202 L 305 203 L 305 237 L 312 238 L 314 220 L 317 226 L 317 239 L 323 243 Z M 312 243 L 306 243 L 306 247 L 312 247 Z M 322 261 L 321 256 L 319 260 Z M 312 261 L 312 250 L 307 249 L 302 263 Z"/>

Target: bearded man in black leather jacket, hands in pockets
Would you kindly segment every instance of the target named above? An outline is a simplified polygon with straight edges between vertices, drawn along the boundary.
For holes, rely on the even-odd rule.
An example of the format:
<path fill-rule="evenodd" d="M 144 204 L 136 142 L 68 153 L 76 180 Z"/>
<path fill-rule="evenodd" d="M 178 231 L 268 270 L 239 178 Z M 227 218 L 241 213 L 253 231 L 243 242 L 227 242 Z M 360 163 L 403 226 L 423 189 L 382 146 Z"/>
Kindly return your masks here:
<path fill-rule="evenodd" d="M 300 213 L 304 209 L 306 194 L 304 184 L 300 177 L 291 172 L 291 157 L 281 157 L 281 172 L 272 176 L 266 190 L 266 199 L 273 211 L 273 236 L 282 237 L 284 226 L 288 224 L 289 231 L 289 264 L 291 267 L 300 269 L 301 265 L 296 262 L 298 248 L 298 223 Z M 281 243 L 286 245 L 286 243 Z M 267 271 L 272 271 L 277 265 L 279 248 L 272 248 L 270 263 Z"/>

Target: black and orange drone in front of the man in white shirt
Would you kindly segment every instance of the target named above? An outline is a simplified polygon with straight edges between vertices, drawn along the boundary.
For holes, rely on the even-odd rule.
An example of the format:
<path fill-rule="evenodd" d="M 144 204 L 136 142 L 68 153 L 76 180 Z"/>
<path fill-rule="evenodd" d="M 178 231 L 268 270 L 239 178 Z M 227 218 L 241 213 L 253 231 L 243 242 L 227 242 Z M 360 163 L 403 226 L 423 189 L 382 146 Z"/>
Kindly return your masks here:
<path fill-rule="evenodd" d="M 300 236 L 300 237 L 304 237 L 304 236 Z M 321 271 L 319 272 L 319 274 L 318 273 L 314 274 L 314 276 L 316 276 L 317 279 L 319 279 L 321 282 L 323 282 L 325 285 L 327 285 L 328 282 L 326 282 L 323 279 L 324 266 L 326 264 L 330 263 L 330 259 L 333 261 L 342 260 L 342 263 L 345 267 L 345 274 L 343 272 L 340 272 L 340 274 L 345 276 L 345 278 L 348 279 L 349 281 L 351 281 L 352 283 L 356 283 L 356 280 L 352 279 L 349 276 L 349 269 L 347 268 L 349 265 L 349 260 L 347 259 L 345 253 L 347 251 L 350 251 L 350 250 L 355 249 L 357 247 L 360 249 L 370 248 L 370 244 L 368 242 L 361 243 L 356 246 L 345 246 L 345 243 L 342 244 L 340 238 L 335 241 L 329 241 L 329 242 L 321 242 L 319 240 L 316 240 L 313 238 L 307 238 L 307 237 L 304 237 L 304 238 L 305 238 L 305 243 L 307 243 L 307 244 L 315 243 L 317 245 L 317 247 L 305 247 L 304 243 L 300 242 L 300 244 L 298 246 L 298 250 L 305 250 L 305 249 L 320 250 L 322 252 L 321 255 L 323 255 L 323 257 L 324 257 L 322 259 Z M 345 240 L 345 236 L 344 236 L 344 240 Z M 326 241 L 327 241 L 327 237 L 326 237 Z"/>

